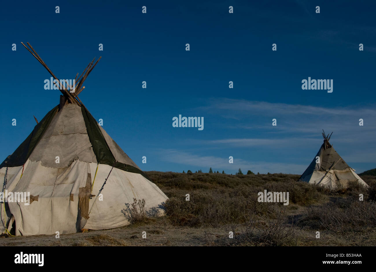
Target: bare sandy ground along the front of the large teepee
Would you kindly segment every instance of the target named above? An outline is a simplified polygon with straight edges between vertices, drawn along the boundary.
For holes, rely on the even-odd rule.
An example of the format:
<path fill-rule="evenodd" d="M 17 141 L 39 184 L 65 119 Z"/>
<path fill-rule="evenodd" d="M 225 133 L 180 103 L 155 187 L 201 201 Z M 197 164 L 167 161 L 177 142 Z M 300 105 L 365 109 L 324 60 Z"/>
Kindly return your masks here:
<path fill-rule="evenodd" d="M 167 218 L 151 219 L 149 224 L 135 224 L 109 230 L 84 233 L 1 237 L 1 246 L 203 246 L 205 232 L 224 236 L 229 228 L 174 227 Z M 146 239 L 142 238 L 146 231 Z"/>

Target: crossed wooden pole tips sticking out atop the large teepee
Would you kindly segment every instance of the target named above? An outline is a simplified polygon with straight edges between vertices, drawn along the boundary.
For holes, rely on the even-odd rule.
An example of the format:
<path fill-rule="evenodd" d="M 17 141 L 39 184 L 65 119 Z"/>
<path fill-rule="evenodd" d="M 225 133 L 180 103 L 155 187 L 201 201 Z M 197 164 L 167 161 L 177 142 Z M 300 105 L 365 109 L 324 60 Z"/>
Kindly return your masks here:
<path fill-rule="evenodd" d="M 94 58 L 89 64 L 88 66 L 86 66 L 85 70 L 83 70 L 82 74 L 80 75 L 80 77 L 77 79 L 77 76 L 78 76 L 78 73 L 76 75 L 76 78 L 75 78 L 75 81 L 77 82 L 76 84 L 76 87 L 74 86 L 70 86 L 69 84 L 67 84 L 67 87 L 68 89 L 66 89 L 64 87 L 64 85 L 61 83 L 61 81 L 59 81 L 59 79 L 53 74 L 53 72 L 50 70 L 50 68 L 48 68 L 48 66 L 45 64 L 45 62 L 41 59 L 41 57 L 39 57 L 38 53 L 36 53 L 36 51 L 34 50 L 34 48 L 27 42 L 26 44 L 30 47 L 27 47 L 23 42 L 21 42 L 21 44 L 35 57 L 35 59 L 38 60 L 38 62 L 41 63 L 41 65 L 43 65 L 43 67 L 52 75 L 52 77 L 58 82 L 54 82 L 54 84 L 56 85 L 56 87 L 59 88 L 60 92 L 63 94 L 63 96 L 65 97 L 65 99 L 72 103 L 72 104 L 76 104 L 76 105 L 82 105 L 83 107 L 85 107 L 85 105 L 83 105 L 82 101 L 78 98 L 78 95 L 80 92 L 82 92 L 83 89 L 85 89 L 85 86 L 82 86 L 83 84 L 83 81 L 86 80 L 86 78 L 88 77 L 88 75 L 91 73 L 92 69 L 94 69 L 94 67 L 97 65 L 97 63 L 99 62 L 99 60 L 102 58 L 102 57 L 99 57 L 99 59 L 97 60 L 96 63 L 94 63 L 94 60 L 96 58 Z M 94 63 L 94 64 L 93 64 Z M 78 81 L 77 81 L 78 80 Z M 58 85 L 59 84 L 59 85 Z M 72 91 L 72 92 L 70 92 Z"/>

